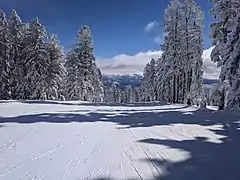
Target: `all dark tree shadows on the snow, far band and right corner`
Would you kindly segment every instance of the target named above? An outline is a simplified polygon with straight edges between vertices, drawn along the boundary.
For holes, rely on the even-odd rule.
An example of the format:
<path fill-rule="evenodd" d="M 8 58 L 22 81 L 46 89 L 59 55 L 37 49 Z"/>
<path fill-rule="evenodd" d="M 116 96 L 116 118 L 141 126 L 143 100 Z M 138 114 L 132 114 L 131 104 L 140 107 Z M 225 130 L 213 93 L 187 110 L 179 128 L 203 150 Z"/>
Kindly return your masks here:
<path fill-rule="evenodd" d="M 173 124 L 197 124 L 201 126 L 222 125 L 218 130 L 211 130 L 223 135 L 222 143 L 207 141 L 204 137 L 194 140 L 142 139 L 138 143 L 164 145 L 168 148 L 187 151 L 190 158 L 181 162 L 169 162 L 164 159 L 145 159 L 143 163 L 153 163 L 165 169 L 160 174 L 161 180 L 239 180 L 240 179 L 240 114 L 225 111 L 198 109 L 188 112 L 119 112 L 114 113 L 44 113 L 19 117 L 0 117 L 0 123 L 69 123 L 69 122 L 112 122 L 123 125 L 119 128 L 147 128 Z M 99 180 L 111 178 L 99 178 Z"/>

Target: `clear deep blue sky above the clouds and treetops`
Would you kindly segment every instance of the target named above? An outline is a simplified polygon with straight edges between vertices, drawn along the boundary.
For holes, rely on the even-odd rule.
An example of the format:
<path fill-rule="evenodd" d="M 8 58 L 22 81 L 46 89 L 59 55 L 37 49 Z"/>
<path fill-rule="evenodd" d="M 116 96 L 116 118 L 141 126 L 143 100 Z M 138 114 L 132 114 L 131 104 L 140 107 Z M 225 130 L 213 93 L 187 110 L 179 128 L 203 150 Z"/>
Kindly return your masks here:
<path fill-rule="evenodd" d="M 204 37 L 208 48 L 211 4 L 208 0 L 196 1 L 205 13 Z M 78 29 L 87 24 L 92 28 L 96 56 L 110 58 L 159 50 L 154 38 L 159 35 L 161 40 L 168 3 L 168 0 L 0 0 L 0 7 L 7 14 L 16 9 L 25 22 L 38 16 L 48 32 L 58 35 L 65 49 L 74 44 Z M 145 31 L 152 21 L 158 23 L 158 34 Z"/>

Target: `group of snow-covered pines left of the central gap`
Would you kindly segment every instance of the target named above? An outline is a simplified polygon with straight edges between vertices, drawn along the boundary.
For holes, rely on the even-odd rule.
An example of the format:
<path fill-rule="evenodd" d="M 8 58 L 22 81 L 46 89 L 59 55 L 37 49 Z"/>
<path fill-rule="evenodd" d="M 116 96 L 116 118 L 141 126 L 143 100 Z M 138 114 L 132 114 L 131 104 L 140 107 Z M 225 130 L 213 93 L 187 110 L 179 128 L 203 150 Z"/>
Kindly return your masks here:
<path fill-rule="evenodd" d="M 0 99 L 103 101 L 90 28 L 63 59 L 63 48 L 36 18 L 23 23 L 0 10 Z"/>

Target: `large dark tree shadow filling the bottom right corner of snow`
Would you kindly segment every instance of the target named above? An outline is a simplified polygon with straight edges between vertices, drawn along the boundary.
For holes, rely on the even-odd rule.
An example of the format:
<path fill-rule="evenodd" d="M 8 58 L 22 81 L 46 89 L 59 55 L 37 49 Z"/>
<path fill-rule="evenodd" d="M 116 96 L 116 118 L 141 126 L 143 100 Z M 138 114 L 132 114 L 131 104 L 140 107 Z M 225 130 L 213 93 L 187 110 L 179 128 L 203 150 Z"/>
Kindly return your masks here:
<path fill-rule="evenodd" d="M 219 124 L 218 122 L 215 122 Z M 203 122 L 204 124 L 204 122 Z M 221 130 L 211 130 L 223 135 L 222 143 L 208 142 L 205 137 L 194 140 L 162 140 L 143 139 L 140 142 L 164 145 L 169 148 L 184 150 L 190 153 L 190 158 L 182 162 L 169 162 L 163 159 L 146 159 L 146 162 L 166 170 L 159 175 L 161 180 L 239 180 L 240 179 L 240 129 L 239 122 L 226 117 L 221 121 Z"/>

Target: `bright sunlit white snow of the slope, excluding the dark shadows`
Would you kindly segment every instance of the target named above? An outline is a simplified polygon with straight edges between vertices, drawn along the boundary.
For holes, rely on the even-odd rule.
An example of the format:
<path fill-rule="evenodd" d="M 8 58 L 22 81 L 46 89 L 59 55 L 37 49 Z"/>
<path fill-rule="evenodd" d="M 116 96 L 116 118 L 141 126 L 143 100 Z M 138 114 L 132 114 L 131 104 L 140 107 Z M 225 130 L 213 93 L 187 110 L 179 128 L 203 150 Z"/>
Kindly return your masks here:
<path fill-rule="evenodd" d="M 4 107 L 3 110 L 1 110 L 2 107 Z M 13 107 L 15 111 L 10 113 Z M 0 123 L 3 125 L 0 128 L 0 164 L 2 164 L 0 165 L 0 180 L 87 180 L 101 177 L 154 179 L 160 177 L 164 169 L 161 169 L 152 159 L 178 162 L 189 158 L 188 152 L 183 152 L 183 150 L 179 152 L 163 145 L 143 143 L 141 140 L 191 140 L 198 137 L 198 133 L 201 133 L 201 136 L 206 134 L 206 138 L 216 141 L 221 138 L 200 125 L 173 124 L 141 127 L 140 124 L 138 128 L 131 128 L 128 125 L 118 124 L 116 121 L 108 121 L 109 118 L 119 117 L 123 119 L 123 122 L 133 121 L 134 124 L 134 121 L 138 119 L 131 119 L 130 115 L 139 112 L 167 112 L 168 108 L 181 112 L 196 110 L 191 107 L 183 108 L 183 105 L 125 107 L 84 106 L 76 105 L 76 103 L 72 105 L 41 104 L 41 106 L 34 103 L 0 103 L 0 118 L 6 120 L 15 118 L 16 121 Z M 51 112 L 48 111 L 49 109 Z M 76 112 L 73 113 L 74 110 Z M 84 117 L 81 117 L 83 118 L 81 123 L 47 121 L 17 123 L 19 116 L 29 115 L 37 119 L 38 114 L 44 113 L 64 115 L 60 112 L 86 115 L 86 118 L 90 112 L 99 113 L 103 119 L 102 121 L 95 119 L 84 122 Z M 105 117 L 102 117 L 104 114 Z M 70 117 L 62 118 L 66 118 L 67 121 Z M 195 127 L 197 131 L 192 127 Z M 26 147 L 28 142 L 31 144 Z M 12 149 L 12 146 L 15 149 Z M 144 159 L 147 161 L 144 162 Z"/>

